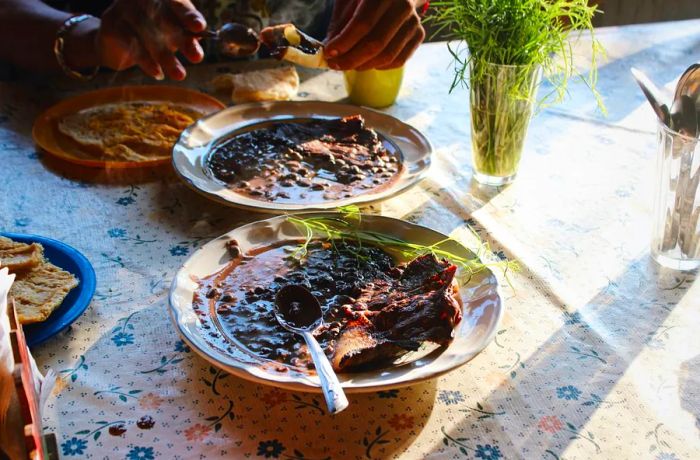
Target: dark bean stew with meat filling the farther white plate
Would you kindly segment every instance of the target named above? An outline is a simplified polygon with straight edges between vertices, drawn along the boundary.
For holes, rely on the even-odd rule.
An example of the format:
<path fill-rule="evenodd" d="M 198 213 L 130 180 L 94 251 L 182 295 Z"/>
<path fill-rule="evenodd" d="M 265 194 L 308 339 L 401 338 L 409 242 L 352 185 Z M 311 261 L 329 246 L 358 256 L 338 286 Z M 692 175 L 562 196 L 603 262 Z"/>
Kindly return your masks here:
<path fill-rule="evenodd" d="M 217 145 L 209 173 L 237 193 L 280 203 L 322 203 L 386 188 L 400 154 L 360 116 L 275 123 Z"/>

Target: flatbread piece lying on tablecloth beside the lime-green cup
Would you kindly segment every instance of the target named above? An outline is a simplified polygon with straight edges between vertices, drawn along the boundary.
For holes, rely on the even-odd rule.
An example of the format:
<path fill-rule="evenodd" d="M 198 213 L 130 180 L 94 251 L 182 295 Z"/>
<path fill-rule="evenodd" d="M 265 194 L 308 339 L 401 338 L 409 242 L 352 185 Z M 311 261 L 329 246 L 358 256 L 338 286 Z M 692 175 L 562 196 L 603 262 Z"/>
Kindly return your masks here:
<path fill-rule="evenodd" d="M 299 90 L 299 74 L 293 66 L 224 74 L 212 80 L 219 90 L 231 90 L 235 104 L 259 101 L 288 101 Z"/>

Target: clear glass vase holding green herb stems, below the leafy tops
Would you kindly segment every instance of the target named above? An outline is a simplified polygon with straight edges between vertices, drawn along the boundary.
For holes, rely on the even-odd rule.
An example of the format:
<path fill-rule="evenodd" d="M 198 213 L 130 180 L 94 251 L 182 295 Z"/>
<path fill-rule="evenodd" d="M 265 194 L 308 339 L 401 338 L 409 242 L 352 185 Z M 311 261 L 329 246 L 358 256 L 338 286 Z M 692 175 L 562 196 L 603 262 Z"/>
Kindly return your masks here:
<path fill-rule="evenodd" d="M 509 184 L 518 172 L 541 68 L 472 63 L 469 72 L 474 177 L 486 185 Z"/>

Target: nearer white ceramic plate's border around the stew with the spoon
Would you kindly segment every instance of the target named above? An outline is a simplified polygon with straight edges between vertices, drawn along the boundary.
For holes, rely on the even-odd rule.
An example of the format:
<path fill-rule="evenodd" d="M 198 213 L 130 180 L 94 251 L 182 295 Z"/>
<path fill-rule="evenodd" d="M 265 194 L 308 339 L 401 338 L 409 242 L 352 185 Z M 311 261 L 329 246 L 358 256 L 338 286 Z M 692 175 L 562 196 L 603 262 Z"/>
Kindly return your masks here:
<path fill-rule="evenodd" d="M 318 215 L 319 213 L 304 214 Z M 320 213 L 337 216 L 337 213 Z M 430 245 L 445 235 L 409 222 L 381 216 L 363 215 L 361 228 L 394 235 L 413 243 Z M 272 243 L 302 237 L 298 227 L 285 216 L 254 222 L 216 238 L 198 249 L 185 262 L 170 289 L 170 312 L 186 342 L 206 360 L 231 374 L 255 382 L 299 391 L 320 391 L 318 377 L 294 371 L 279 372 L 279 363 L 252 354 L 231 342 L 221 345 L 213 339 L 211 329 L 202 323 L 192 308 L 198 278 L 223 268 L 230 260 L 226 242 L 235 239 L 245 253 Z M 457 242 L 444 247 L 465 257 L 473 254 Z M 408 360 L 406 364 L 361 373 L 340 374 L 347 392 L 377 391 L 410 385 L 437 377 L 455 369 L 476 356 L 493 339 L 503 313 L 503 301 L 496 277 L 490 270 L 471 277 L 460 288 L 463 318 L 456 328 L 455 339 L 447 347 Z M 206 327 L 209 327 L 205 325 Z"/>

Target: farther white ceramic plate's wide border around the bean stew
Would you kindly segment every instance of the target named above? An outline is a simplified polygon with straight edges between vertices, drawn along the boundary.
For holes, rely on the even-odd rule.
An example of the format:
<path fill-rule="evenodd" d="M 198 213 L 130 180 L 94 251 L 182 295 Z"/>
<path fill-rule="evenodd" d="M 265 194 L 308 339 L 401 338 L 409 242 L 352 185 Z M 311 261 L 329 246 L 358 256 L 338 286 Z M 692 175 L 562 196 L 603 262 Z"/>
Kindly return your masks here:
<path fill-rule="evenodd" d="M 362 115 L 366 126 L 374 129 L 401 153 L 404 170 L 389 187 L 351 198 L 317 204 L 274 203 L 241 195 L 211 177 L 206 162 L 212 147 L 252 126 L 298 119 L 329 119 Z M 254 211 L 283 213 L 289 211 L 329 210 L 350 204 L 367 204 L 392 197 L 418 183 L 428 172 L 432 147 L 415 128 L 385 113 L 364 107 L 333 102 L 262 102 L 229 107 L 198 120 L 187 128 L 173 148 L 173 166 L 194 190 L 216 201 Z"/>

